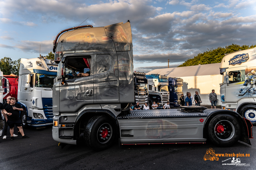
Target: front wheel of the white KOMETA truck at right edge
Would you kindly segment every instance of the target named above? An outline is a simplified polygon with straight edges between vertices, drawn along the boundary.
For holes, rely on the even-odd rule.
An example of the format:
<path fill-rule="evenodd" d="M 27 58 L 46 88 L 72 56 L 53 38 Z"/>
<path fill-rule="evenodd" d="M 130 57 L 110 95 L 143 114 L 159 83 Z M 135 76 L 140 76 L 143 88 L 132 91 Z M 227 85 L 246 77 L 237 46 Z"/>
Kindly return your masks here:
<path fill-rule="evenodd" d="M 256 125 L 256 106 L 255 105 L 247 105 L 242 107 L 240 111 L 240 115 L 250 120 L 252 125 Z"/>

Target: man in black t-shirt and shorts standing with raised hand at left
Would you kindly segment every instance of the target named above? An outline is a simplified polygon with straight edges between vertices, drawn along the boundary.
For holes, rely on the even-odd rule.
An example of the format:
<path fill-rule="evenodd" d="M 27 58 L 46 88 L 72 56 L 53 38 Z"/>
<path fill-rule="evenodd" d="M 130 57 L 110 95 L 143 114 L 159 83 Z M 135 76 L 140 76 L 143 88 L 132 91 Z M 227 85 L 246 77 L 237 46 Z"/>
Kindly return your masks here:
<path fill-rule="evenodd" d="M 20 104 L 16 103 L 15 98 L 10 98 L 10 105 L 6 106 L 7 113 L 7 120 L 6 122 L 10 126 L 10 134 L 11 134 L 11 141 L 14 140 L 13 132 L 14 132 L 14 125 L 18 127 L 20 130 L 20 133 L 22 135 L 22 138 L 29 138 L 28 136 L 24 135 L 21 120 L 20 120 L 20 111 L 23 111 Z"/>

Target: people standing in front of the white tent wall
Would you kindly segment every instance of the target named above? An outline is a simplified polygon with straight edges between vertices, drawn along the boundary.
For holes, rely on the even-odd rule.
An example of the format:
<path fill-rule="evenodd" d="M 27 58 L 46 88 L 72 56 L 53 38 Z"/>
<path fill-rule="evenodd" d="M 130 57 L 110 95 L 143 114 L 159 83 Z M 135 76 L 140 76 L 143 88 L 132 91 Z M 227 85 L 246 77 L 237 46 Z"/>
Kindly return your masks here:
<path fill-rule="evenodd" d="M 200 103 L 202 103 L 202 100 L 201 100 L 201 97 L 199 96 L 198 91 L 195 92 L 194 98 L 191 96 L 190 92 L 187 92 L 186 94 L 187 94 L 186 98 L 184 98 L 184 95 L 181 94 L 181 97 L 180 97 L 181 106 L 185 106 L 185 105 L 192 106 L 192 103 L 194 103 L 194 101 L 195 101 L 196 106 L 200 106 Z M 213 108 L 213 106 L 214 106 L 214 108 L 216 109 L 218 98 L 217 98 L 217 95 L 216 95 L 214 89 L 209 94 L 209 100 L 211 102 L 211 108 Z"/>

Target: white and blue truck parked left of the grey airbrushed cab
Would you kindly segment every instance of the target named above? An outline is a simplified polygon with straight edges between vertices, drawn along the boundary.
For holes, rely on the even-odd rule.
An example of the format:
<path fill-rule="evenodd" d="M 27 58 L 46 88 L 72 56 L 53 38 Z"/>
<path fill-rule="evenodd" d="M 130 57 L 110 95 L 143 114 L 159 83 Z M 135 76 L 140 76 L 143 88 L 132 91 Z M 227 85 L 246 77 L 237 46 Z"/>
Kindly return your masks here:
<path fill-rule="evenodd" d="M 23 108 L 23 126 L 39 129 L 52 125 L 52 86 L 57 69 L 54 60 L 43 56 L 20 60 L 18 102 Z"/>

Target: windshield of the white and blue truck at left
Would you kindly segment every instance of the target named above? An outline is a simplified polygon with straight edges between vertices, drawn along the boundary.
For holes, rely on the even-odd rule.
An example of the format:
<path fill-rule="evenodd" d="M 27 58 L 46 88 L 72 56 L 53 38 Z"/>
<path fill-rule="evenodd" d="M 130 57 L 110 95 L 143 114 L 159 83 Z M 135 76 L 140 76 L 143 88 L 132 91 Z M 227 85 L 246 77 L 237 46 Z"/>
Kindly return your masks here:
<path fill-rule="evenodd" d="M 56 76 L 47 74 L 36 74 L 36 87 L 52 88 L 54 78 L 56 78 Z"/>

